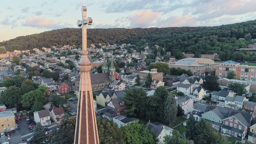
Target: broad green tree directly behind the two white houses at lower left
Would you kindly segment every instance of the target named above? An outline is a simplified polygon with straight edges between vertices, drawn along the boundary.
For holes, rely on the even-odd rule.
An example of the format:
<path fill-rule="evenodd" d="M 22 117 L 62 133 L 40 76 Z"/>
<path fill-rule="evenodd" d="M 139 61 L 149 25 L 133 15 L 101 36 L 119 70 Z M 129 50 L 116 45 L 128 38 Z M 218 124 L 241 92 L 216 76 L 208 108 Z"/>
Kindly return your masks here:
<path fill-rule="evenodd" d="M 22 95 L 21 103 L 27 110 L 30 110 L 35 102 L 42 102 L 42 104 L 47 103 L 45 96 L 42 95 L 40 90 L 33 90 Z"/>

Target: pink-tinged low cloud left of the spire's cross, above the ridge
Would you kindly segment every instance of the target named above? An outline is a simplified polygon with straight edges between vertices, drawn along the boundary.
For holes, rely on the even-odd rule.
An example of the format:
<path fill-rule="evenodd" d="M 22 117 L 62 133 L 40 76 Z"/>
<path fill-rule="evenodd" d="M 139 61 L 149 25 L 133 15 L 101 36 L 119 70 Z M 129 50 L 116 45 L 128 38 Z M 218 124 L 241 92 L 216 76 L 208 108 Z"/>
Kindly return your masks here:
<path fill-rule="evenodd" d="M 30 26 L 35 28 L 46 28 L 46 29 L 58 29 L 58 28 L 67 28 L 71 27 L 71 24 L 65 23 L 60 24 L 60 22 L 56 23 L 54 20 L 46 20 L 45 18 L 34 17 L 26 18 L 26 21 L 22 26 Z"/>

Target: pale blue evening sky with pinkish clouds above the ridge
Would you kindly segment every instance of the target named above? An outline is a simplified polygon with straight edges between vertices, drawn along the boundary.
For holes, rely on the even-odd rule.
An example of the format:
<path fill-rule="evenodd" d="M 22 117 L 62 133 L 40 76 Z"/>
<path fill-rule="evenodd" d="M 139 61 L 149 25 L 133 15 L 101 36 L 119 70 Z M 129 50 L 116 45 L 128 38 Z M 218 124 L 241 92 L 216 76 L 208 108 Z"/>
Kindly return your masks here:
<path fill-rule="evenodd" d="M 220 26 L 256 20 L 256 0 L 0 0 L 0 42 L 60 28 Z"/>

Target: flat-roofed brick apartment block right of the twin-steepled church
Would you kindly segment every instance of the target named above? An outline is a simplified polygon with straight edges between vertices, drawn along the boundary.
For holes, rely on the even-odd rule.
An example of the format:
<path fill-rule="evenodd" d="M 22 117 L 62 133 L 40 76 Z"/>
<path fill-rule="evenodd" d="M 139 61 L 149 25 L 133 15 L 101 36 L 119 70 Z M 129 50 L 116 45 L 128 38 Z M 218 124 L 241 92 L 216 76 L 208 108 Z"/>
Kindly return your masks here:
<path fill-rule="evenodd" d="M 163 72 L 157 72 L 157 69 L 151 69 L 150 71 L 144 70 L 138 72 L 138 75 L 140 76 L 140 83 L 145 84 L 146 83 L 146 78 L 150 74 L 152 77 L 152 80 L 160 80 L 161 82 L 163 81 Z"/>

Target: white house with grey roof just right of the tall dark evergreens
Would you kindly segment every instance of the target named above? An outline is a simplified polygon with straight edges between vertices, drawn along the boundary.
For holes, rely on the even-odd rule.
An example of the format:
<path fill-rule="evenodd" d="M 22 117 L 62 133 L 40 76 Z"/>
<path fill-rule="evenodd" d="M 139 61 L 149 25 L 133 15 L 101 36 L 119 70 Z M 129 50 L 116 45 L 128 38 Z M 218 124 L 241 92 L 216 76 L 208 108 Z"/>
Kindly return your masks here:
<path fill-rule="evenodd" d="M 193 100 L 190 97 L 180 97 L 176 100 L 176 105 L 182 107 L 184 114 L 193 111 L 193 104 Z"/>

